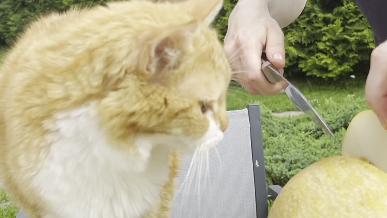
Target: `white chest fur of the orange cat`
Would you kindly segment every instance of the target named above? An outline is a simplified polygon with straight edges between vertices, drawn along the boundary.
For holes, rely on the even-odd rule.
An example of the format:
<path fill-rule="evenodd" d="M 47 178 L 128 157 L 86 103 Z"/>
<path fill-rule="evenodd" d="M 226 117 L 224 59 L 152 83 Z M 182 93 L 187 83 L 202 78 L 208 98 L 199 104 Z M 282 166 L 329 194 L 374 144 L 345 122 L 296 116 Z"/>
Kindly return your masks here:
<path fill-rule="evenodd" d="M 32 181 L 50 210 L 45 218 L 140 218 L 168 178 L 169 149 L 151 148 L 146 138 L 138 142 L 143 155 L 114 149 L 92 108 L 62 112 L 47 123 L 51 150 Z"/>

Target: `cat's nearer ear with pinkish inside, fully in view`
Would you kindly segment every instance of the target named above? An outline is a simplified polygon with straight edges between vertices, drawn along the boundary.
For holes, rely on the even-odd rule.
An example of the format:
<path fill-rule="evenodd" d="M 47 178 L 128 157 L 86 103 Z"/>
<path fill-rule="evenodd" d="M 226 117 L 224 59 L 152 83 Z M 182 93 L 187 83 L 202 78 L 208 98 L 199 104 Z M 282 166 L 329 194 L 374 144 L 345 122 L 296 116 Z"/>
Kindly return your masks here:
<path fill-rule="evenodd" d="M 151 80 L 161 79 L 164 69 L 174 69 L 178 66 L 179 55 L 192 45 L 198 31 L 199 23 L 193 21 L 180 26 L 147 31 L 140 37 L 140 43 L 146 49 L 146 59 L 143 60 L 142 67 L 153 74 Z"/>

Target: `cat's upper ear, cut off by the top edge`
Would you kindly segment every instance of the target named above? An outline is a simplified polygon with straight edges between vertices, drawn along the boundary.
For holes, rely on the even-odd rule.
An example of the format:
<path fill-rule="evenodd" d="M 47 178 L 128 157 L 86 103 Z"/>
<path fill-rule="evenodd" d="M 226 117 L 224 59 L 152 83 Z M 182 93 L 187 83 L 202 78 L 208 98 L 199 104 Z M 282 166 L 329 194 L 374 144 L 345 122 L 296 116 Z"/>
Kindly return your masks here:
<path fill-rule="evenodd" d="M 223 8 L 223 0 L 186 0 L 181 2 L 182 10 L 209 26 Z"/>

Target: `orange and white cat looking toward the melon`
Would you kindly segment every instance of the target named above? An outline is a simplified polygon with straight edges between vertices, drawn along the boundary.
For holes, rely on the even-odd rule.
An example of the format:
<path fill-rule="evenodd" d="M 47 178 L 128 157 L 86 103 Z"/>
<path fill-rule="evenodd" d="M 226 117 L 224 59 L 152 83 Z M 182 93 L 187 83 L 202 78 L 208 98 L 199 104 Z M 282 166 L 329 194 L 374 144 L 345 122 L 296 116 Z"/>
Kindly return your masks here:
<path fill-rule="evenodd" d="M 174 151 L 211 149 L 228 126 L 209 27 L 222 3 L 114 2 L 29 26 L 0 81 L 0 175 L 29 218 L 168 216 Z"/>

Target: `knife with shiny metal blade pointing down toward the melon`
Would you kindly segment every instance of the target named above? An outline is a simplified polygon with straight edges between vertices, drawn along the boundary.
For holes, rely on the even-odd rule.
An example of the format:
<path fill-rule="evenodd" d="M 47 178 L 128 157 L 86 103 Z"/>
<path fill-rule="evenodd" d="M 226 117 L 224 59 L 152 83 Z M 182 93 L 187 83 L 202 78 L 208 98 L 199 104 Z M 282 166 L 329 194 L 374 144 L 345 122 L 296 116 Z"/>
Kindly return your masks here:
<path fill-rule="evenodd" d="M 271 83 L 276 83 L 281 80 L 284 80 L 288 84 L 288 86 L 283 88 L 285 90 L 286 95 L 288 95 L 288 97 L 291 99 L 293 104 L 296 107 L 298 107 L 298 109 L 300 109 L 305 114 L 307 114 L 309 118 L 312 119 L 312 121 L 314 121 L 317 125 L 319 125 L 324 131 L 324 133 L 334 137 L 332 131 L 330 131 L 327 124 L 321 119 L 321 116 L 309 103 L 308 99 L 305 98 L 305 96 L 295 86 L 293 86 L 288 80 L 286 80 L 281 75 L 281 73 L 279 73 L 279 70 L 277 69 L 277 67 L 274 67 L 274 65 L 267 60 L 265 52 L 262 53 L 261 59 L 262 59 L 262 71 L 266 79 L 269 80 L 269 82 Z"/>

